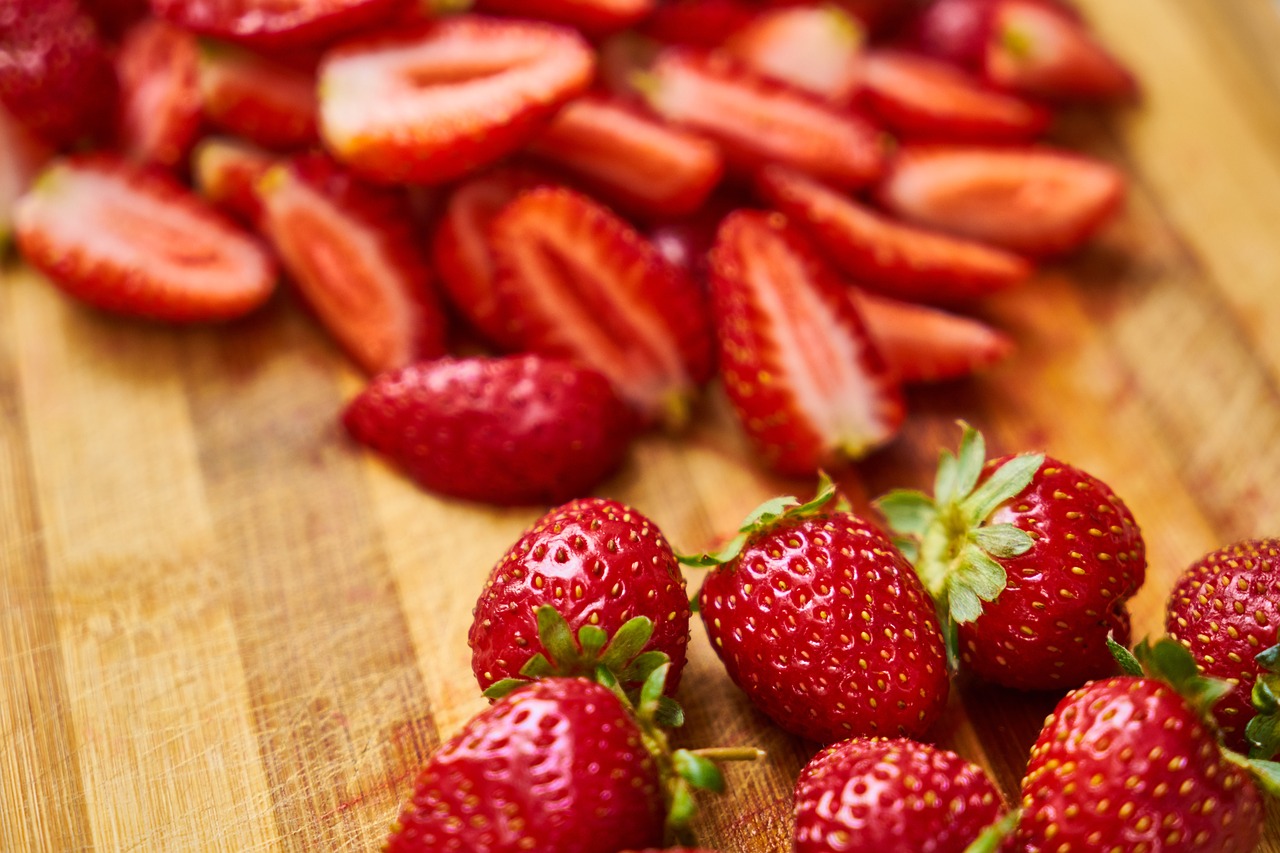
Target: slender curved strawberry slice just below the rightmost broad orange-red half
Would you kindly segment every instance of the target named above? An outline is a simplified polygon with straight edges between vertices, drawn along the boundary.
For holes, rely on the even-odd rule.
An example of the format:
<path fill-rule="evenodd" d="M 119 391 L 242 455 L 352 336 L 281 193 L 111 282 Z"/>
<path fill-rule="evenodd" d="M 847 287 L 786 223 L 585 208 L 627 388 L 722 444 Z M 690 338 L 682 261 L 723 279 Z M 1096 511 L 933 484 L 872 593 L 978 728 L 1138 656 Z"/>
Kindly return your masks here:
<path fill-rule="evenodd" d="M 896 298 L 959 302 L 1014 287 L 1032 273 L 1018 255 L 895 222 L 790 169 L 769 167 L 756 183 L 842 272 Z"/>

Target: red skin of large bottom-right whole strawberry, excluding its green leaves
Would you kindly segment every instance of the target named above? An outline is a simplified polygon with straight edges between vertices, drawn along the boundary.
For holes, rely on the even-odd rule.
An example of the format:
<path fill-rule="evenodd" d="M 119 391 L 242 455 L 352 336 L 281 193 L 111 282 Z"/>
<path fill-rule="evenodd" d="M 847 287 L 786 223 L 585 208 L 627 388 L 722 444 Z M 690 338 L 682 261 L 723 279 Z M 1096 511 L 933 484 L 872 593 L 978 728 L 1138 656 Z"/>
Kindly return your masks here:
<path fill-rule="evenodd" d="M 1032 747 L 1018 849 L 1252 850 L 1262 806 L 1245 771 L 1164 681 L 1114 678 L 1066 695 Z"/>

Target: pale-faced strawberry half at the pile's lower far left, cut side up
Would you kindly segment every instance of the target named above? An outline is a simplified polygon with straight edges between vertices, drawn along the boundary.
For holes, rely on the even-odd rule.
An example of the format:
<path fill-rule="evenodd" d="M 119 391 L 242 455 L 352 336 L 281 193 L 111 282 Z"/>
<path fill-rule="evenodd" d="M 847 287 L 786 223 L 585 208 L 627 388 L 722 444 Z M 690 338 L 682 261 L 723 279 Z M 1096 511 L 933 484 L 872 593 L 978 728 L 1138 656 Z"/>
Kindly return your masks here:
<path fill-rule="evenodd" d="M 54 161 L 18 202 L 15 232 L 28 264 L 118 314 L 225 320 L 275 288 L 257 241 L 168 174 L 115 155 Z"/>

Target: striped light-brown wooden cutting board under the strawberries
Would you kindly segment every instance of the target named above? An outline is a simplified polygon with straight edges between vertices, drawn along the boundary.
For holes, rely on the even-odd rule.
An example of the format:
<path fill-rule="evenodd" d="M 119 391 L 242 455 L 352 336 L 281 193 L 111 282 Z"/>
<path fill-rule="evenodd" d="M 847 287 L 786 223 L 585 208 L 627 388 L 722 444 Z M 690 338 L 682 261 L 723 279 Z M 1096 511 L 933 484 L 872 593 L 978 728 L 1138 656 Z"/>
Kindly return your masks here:
<path fill-rule="evenodd" d="M 1174 576 L 1280 534 L 1280 18 L 1270 0 L 1088 0 L 1140 110 L 1062 141 L 1123 164 L 1126 215 L 988 306 L 1020 352 L 911 393 L 846 485 L 924 485 L 954 420 L 1110 482 L 1148 542 L 1138 635 Z M 466 629 L 535 517 L 442 501 L 344 441 L 361 379 L 293 307 L 172 330 L 0 280 L 0 849 L 372 850 L 411 775 L 484 707 Z M 680 548 L 810 483 L 750 462 L 713 396 L 602 492 Z M 700 841 L 786 850 L 812 747 L 756 715 L 695 629 L 687 744 L 756 744 Z M 961 683 L 941 743 L 1014 793 L 1053 695 Z M 1272 812 L 1265 849 L 1280 853 Z"/>

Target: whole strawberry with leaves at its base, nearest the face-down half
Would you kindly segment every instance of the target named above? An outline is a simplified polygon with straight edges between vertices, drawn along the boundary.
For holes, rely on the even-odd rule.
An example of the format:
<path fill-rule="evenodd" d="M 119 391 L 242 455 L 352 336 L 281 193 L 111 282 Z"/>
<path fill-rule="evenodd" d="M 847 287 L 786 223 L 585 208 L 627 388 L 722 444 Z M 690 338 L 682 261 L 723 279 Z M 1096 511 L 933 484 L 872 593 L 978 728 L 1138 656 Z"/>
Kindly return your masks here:
<path fill-rule="evenodd" d="M 689 593 L 676 555 L 617 501 L 572 501 L 535 521 L 489 573 L 474 613 L 471 670 L 489 697 L 521 678 L 598 666 L 635 689 L 666 662 L 673 694 L 685 669 Z"/>

